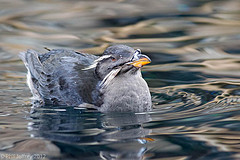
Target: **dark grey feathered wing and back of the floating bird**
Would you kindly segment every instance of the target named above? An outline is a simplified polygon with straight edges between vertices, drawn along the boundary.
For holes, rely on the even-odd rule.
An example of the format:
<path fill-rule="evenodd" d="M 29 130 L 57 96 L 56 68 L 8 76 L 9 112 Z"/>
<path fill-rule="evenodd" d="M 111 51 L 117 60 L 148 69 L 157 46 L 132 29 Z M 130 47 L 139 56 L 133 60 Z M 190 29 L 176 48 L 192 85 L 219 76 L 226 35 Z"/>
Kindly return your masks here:
<path fill-rule="evenodd" d="M 98 79 L 94 68 L 83 70 L 98 57 L 73 50 L 54 49 L 41 54 L 20 53 L 28 69 L 28 85 L 35 99 L 45 104 L 76 106 L 91 103 Z"/>

